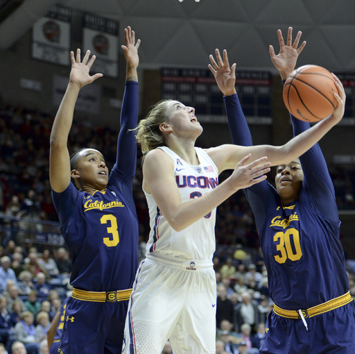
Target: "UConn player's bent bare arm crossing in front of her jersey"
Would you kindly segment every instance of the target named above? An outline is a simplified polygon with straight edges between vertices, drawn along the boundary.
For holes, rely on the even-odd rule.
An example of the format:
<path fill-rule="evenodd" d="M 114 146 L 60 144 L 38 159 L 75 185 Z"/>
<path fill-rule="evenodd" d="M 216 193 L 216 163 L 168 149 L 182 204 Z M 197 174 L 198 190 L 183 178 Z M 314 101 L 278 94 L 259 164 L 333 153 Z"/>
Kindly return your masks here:
<path fill-rule="evenodd" d="M 266 178 L 264 174 L 270 171 L 266 158 L 245 165 L 249 158 L 249 155 L 243 158 L 232 176 L 211 192 L 182 203 L 174 177 L 173 160 L 161 149 L 155 149 L 144 159 L 144 190 L 153 195 L 171 227 L 181 231 L 211 212 L 238 189 L 250 187 Z"/>

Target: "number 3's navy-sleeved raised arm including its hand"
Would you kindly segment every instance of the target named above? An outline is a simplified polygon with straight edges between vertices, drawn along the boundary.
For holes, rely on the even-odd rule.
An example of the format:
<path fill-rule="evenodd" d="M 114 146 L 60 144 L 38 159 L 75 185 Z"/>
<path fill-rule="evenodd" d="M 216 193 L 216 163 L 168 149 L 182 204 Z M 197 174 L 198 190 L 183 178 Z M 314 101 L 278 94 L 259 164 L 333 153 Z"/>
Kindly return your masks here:
<path fill-rule="evenodd" d="M 130 26 L 125 28 L 125 53 L 126 74 L 125 94 L 121 109 L 121 130 L 117 143 L 117 167 L 123 174 L 135 176 L 137 165 L 137 142 L 135 133 L 130 131 L 137 126 L 138 121 L 138 75 L 139 64 L 138 48 L 140 40 L 135 43 L 135 31 Z"/>

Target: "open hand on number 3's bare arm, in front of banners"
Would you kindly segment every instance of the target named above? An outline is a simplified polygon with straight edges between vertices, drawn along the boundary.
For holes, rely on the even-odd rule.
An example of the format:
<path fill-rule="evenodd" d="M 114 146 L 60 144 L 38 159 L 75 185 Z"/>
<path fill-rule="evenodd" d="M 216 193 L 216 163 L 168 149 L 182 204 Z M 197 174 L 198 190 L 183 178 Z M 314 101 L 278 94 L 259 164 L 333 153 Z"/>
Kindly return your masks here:
<path fill-rule="evenodd" d="M 87 51 L 85 57 L 83 58 L 83 62 L 80 62 L 80 49 L 76 50 L 76 58 L 74 57 L 74 52 L 70 52 L 71 71 L 69 83 L 78 85 L 79 88 L 81 88 L 88 83 L 92 83 L 96 80 L 96 78 L 101 78 L 101 76 L 103 76 L 103 74 L 95 74 L 90 76 L 89 71 L 96 59 L 96 56 L 92 56 L 90 60 L 89 57 L 90 51 Z"/>

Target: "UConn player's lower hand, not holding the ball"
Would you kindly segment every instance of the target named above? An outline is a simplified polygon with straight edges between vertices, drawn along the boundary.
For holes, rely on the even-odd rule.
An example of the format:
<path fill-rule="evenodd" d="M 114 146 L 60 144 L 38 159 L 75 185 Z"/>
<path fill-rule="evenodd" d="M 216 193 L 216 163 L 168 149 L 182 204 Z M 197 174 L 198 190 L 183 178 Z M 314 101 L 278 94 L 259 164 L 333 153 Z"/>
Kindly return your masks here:
<path fill-rule="evenodd" d="M 261 182 L 262 180 L 265 180 L 265 174 L 270 172 L 270 162 L 266 162 L 266 160 L 268 160 L 266 157 L 259 158 L 249 165 L 245 165 L 245 163 L 250 159 L 250 156 L 251 154 L 245 156 L 245 158 L 243 158 L 243 160 L 236 165 L 236 168 L 230 176 L 237 189 L 248 188 Z"/>

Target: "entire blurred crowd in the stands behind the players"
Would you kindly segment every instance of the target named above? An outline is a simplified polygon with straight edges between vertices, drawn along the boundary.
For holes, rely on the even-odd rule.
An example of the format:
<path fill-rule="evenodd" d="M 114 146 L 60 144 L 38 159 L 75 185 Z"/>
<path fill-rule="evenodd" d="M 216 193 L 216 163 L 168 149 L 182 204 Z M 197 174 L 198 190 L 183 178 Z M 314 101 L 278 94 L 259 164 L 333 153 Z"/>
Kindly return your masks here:
<path fill-rule="evenodd" d="M 46 330 L 71 292 L 71 261 L 67 249 L 34 244 L 33 239 L 21 237 L 18 232 L 26 219 L 58 221 L 49 185 L 52 123 L 51 115 L 0 101 L 0 226 L 10 230 L 1 233 L 0 354 L 6 351 L 46 353 Z M 119 117 L 116 129 L 92 126 L 76 117 L 69 135 L 69 152 L 83 146 L 98 149 L 111 169 L 110 164 L 116 160 L 118 133 Z M 227 172 L 223 173 L 220 181 L 227 176 Z M 339 208 L 355 209 L 355 171 L 334 167 L 331 176 Z M 141 180 L 139 156 L 133 192 L 142 260 L 149 234 L 149 217 Z M 40 228 L 40 223 L 34 227 Z M 254 217 L 242 191 L 218 207 L 216 244 L 216 353 L 258 353 L 272 301 Z M 355 267 L 351 264 L 352 296 L 355 296 L 354 273 Z M 17 347 L 21 347 L 19 351 Z M 171 353 L 168 342 L 163 353 Z"/>

